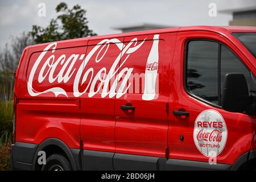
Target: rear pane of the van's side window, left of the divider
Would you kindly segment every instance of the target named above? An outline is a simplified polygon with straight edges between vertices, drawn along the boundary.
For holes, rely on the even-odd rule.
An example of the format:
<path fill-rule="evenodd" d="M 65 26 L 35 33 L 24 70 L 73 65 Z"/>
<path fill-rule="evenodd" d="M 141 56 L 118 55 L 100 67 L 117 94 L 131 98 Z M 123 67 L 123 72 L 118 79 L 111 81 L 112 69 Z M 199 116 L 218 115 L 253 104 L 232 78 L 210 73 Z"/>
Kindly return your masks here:
<path fill-rule="evenodd" d="M 188 43 L 187 89 L 218 104 L 218 43 L 204 40 Z"/>

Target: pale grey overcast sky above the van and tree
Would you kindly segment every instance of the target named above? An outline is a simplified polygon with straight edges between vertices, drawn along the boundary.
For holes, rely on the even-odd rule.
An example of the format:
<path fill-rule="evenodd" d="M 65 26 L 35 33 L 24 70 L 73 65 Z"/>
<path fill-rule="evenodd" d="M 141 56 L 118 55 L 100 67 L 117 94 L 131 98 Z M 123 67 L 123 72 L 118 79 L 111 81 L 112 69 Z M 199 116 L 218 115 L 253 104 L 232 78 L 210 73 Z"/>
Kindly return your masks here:
<path fill-rule="evenodd" d="M 33 24 L 47 26 L 56 18 L 55 7 L 65 2 L 69 7 L 79 4 L 87 10 L 89 28 L 98 35 L 114 34 L 120 31 L 113 27 L 155 23 L 167 26 L 228 25 L 232 16 L 217 13 L 210 17 L 209 3 L 216 3 L 217 10 L 255 5 L 255 0 L 0 0 L 0 48 L 10 41 L 11 36 L 19 36 L 30 31 Z M 46 17 L 38 16 L 38 4 L 46 4 Z"/>

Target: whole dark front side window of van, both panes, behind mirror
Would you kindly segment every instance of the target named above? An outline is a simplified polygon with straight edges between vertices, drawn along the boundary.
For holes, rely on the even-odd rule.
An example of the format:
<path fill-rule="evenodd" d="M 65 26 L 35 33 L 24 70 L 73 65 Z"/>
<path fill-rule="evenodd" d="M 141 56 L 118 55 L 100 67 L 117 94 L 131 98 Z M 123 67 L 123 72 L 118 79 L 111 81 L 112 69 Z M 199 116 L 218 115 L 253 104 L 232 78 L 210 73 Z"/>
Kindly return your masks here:
<path fill-rule="evenodd" d="M 210 40 L 191 40 L 187 44 L 189 93 L 221 106 L 222 88 L 227 73 L 243 73 L 250 90 L 251 75 L 236 55 L 226 46 Z"/>

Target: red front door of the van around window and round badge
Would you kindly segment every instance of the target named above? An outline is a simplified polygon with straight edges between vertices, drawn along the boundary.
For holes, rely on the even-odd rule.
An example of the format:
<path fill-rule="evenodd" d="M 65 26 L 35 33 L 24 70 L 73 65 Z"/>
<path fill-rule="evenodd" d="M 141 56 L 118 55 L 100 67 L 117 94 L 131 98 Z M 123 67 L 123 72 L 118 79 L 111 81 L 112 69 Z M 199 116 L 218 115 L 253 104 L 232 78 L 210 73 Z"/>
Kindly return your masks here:
<path fill-rule="evenodd" d="M 198 153 L 197 148 L 193 142 L 193 129 L 197 116 L 204 110 L 213 109 L 221 113 L 225 118 L 226 126 L 228 128 L 228 140 L 226 146 L 220 155 L 217 157 L 218 163 L 233 164 L 241 154 L 250 150 L 251 139 L 253 138 L 253 132 L 255 131 L 255 116 L 249 116 L 242 113 L 231 113 L 223 109 L 210 106 L 197 100 L 196 98 L 189 96 L 184 89 L 184 74 L 180 70 L 184 69 L 184 49 L 185 43 L 192 39 L 209 39 L 223 43 L 228 46 L 236 55 L 242 59 L 243 63 L 254 71 L 253 66 L 246 59 L 234 44 L 233 39 L 227 39 L 224 36 L 215 32 L 205 31 L 180 31 L 177 35 L 176 51 L 174 55 L 174 61 L 172 68 L 174 74 L 172 74 L 171 80 L 175 80 L 171 88 L 174 89 L 174 94 L 170 95 L 170 105 L 173 105 L 174 110 L 189 111 L 189 118 L 180 118 L 170 114 L 170 129 L 168 130 L 168 146 L 170 150 L 169 158 L 196 160 L 202 162 L 208 162 L 207 156 Z M 177 72 L 176 72 L 177 71 Z M 255 74 L 255 73 L 254 73 Z M 184 141 L 181 142 L 179 136 L 184 134 Z M 187 140 L 186 140 L 187 138 Z"/>

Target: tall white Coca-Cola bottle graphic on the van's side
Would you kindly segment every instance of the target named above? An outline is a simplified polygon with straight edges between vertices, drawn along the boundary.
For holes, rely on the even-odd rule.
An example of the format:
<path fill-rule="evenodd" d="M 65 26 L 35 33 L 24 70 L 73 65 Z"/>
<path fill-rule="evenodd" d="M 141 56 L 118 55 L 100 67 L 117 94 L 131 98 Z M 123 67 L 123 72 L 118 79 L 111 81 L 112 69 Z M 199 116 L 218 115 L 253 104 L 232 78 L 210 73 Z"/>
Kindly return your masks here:
<path fill-rule="evenodd" d="M 155 98 L 155 84 L 158 76 L 158 43 L 159 35 L 154 35 L 154 41 L 147 58 L 145 84 L 142 100 L 150 101 Z"/>

